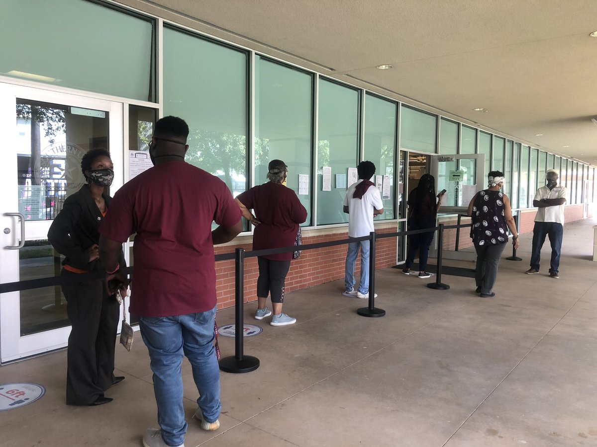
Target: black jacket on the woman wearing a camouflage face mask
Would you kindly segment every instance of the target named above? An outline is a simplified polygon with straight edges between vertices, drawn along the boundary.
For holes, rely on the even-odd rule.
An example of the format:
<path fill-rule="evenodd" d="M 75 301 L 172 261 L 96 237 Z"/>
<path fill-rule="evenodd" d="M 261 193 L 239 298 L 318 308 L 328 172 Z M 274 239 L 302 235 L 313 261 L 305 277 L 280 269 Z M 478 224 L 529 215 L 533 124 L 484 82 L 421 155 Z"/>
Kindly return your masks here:
<path fill-rule="evenodd" d="M 109 207 L 112 197 L 106 191 L 103 197 L 106 207 Z M 99 259 L 89 262 L 89 254 L 85 251 L 93 244 L 99 244 L 98 229 L 101 221 L 103 216 L 87 185 L 66 198 L 62 210 L 54 218 L 48 231 L 50 244 L 57 252 L 66 256 L 62 265 L 88 271 L 101 269 Z M 122 250 L 119 257 L 120 266 L 126 266 Z"/>

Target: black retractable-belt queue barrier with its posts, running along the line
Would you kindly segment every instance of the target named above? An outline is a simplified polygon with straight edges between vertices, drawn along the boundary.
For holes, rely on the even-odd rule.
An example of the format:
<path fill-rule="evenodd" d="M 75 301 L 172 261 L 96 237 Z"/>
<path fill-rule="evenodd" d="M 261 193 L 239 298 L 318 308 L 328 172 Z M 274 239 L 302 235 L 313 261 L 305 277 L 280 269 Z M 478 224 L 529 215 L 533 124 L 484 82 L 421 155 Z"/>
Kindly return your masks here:
<path fill-rule="evenodd" d="M 445 229 L 464 228 L 470 226 L 466 225 L 448 225 L 439 224 L 432 228 L 424 228 L 410 231 L 399 231 L 390 233 L 376 234 L 372 231 L 368 236 L 347 239 L 327 241 L 314 244 L 303 244 L 300 246 L 281 247 L 277 249 L 267 250 L 251 250 L 245 251 L 244 248 L 239 247 L 234 253 L 216 254 L 216 262 L 221 260 L 235 260 L 235 355 L 220 359 L 220 369 L 227 373 L 248 373 L 259 368 L 259 359 L 254 356 L 244 355 L 243 334 L 244 334 L 244 260 L 249 257 L 264 256 L 267 254 L 288 253 L 295 251 L 315 250 L 325 247 L 333 247 L 360 241 L 370 241 L 370 255 L 369 255 L 369 300 L 366 308 L 357 309 L 358 315 L 367 317 L 380 317 L 386 315 L 386 311 L 375 307 L 375 266 L 376 266 L 376 246 L 378 239 L 399 237 L 411 234 L 419 234 L 430 231 L 438 231 L 438 265 L 435 283 L 427 284 L 427 287 L 436 290 L 447 290 L 449 285 L 441 282 L 442 269 L 442 253 L 443 253 L 443 234 Z M 133 266 L 121 269 L 124 274 L 133 274 Z M 63 285 L 70 283 L 78 283 L 83 281 L 97 280 L 104 278 L 104 272 L 90 272 L 78 275 L 67 275 L 60 277 L 38 278 L 35 280 L 15 281 L 13 283 L 0 284 L 0 294 L 12 291 L 30 290 L 33 288 L 41 288 L 55 285 Z"/>

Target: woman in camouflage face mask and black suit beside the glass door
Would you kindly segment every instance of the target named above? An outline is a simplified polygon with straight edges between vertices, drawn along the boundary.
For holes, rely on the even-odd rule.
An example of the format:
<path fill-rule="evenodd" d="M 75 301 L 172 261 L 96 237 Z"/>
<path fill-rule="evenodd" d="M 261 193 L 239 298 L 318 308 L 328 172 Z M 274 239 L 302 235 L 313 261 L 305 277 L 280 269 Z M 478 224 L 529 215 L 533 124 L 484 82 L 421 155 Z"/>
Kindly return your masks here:
<path fill-rule="evenodd" d="M 54 249 L 66 256 L 61 275 L 100 271 L 99 226 L 110 206 L 107 187 L 114 178 L 110 153 L 88 151 L 81 160 L 87 184 L 70 195 L 48 231 Z M 121 253 L 119 265 L 124 266 Z M 79 281 L 62 286 L 66 312 L 72 325 L 69 336 L 66 375 L 68 405 L 101 405 L 112 401 L 104 396 L 124 377 L 114 376 L 114 347 L 119 306 L 109 296 L 103 280 Z"/>

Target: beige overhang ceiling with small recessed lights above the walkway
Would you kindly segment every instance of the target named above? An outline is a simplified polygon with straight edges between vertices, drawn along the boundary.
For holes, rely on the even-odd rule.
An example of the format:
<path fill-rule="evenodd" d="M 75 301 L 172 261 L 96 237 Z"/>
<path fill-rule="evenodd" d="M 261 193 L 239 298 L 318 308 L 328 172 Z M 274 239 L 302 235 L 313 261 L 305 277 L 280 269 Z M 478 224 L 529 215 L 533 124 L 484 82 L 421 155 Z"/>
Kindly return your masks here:
<path fill-rule="evenodd" d="M 597 166 L 595 0 L 121 2 Z"/>

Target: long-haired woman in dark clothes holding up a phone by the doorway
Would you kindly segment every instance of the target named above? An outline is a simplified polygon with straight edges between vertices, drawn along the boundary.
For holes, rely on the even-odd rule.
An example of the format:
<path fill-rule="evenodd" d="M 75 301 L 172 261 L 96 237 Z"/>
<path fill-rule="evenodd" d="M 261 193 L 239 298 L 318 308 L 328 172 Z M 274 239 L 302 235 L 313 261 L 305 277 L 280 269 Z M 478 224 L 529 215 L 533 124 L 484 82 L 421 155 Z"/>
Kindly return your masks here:
<path fill-rule="evenodd" d="M 408 194 L 408 229 L 416 230 L 435 227 L 435 218 L 438 215 L 439 206 L 442 204 L 442 194 L 439 200 L 435 196 L 435 178 L 430 174 L 423 174 L 416 188 Z M 411 234 L 408 236 L 407 260 L 402 272 L 410 275 L 410 268 L 414 258 L 418 257 L 418 277 L 429 278 L 431 275 L 425 271 L 427 258 L 429 257 L 429 246 L 433 240 L 433 231 Z"/>

